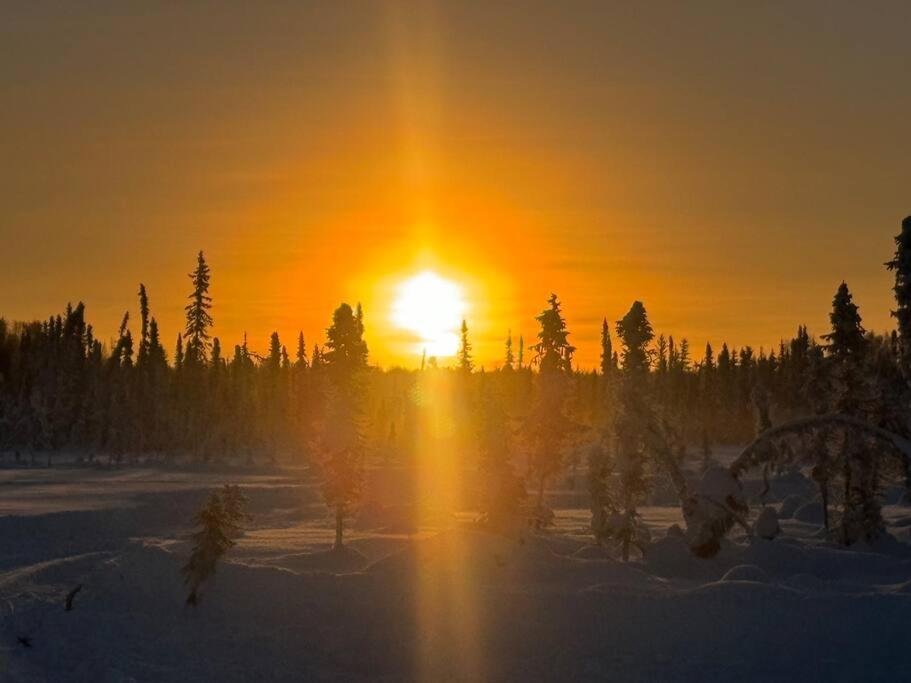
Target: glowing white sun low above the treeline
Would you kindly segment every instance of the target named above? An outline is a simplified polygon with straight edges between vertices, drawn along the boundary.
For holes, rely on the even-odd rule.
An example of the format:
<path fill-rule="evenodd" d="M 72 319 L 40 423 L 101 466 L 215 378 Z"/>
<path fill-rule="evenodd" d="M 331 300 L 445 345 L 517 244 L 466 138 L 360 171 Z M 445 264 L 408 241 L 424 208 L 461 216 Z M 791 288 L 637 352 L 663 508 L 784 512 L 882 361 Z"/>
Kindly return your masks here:
<path fill-rule="evenodd" d="M 461 286 L 425 270 L 396 288 L 392 322 L 418 338 L 416 353 L 454 356 L 459 349 L 459 325 L 467 310 Z"/>

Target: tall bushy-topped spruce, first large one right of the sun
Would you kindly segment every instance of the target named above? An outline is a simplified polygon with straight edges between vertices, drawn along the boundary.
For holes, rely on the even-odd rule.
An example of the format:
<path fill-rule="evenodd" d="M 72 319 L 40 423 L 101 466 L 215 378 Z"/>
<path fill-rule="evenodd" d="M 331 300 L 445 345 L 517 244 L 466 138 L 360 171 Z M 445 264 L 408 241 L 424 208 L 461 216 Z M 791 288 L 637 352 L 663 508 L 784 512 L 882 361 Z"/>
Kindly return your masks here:
<path fill-rule="evenodd" d="M 531 442 L 529 473 L 537 484 L 531 522 L 541 526 L 549 524 L 553 516 L 544 505 L 544 487 L 560 471 L 566 440 L 573 428 L 566 416 L 566 401 L 575 347 L 569 343 L 569 331 L 556 294 L 550 295 L 548 307 L 535 319 L 540 331 L 538 343 L 531 348 L 535 352 L 538 375 L 533 404 L 526 420 L 526 433 Z"/>

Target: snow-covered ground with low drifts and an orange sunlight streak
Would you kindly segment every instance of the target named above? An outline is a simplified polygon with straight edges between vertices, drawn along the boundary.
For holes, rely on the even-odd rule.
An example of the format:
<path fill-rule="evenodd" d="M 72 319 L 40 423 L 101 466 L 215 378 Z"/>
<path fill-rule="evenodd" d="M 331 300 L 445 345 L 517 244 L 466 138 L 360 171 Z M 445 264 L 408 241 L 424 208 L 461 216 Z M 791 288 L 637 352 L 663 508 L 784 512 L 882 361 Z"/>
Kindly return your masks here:
<path fill-rule="evenodd" d="M 179 568 L 207 491 L 239 483 L 250 529 L 196 609 Z M 780 500 L 808 495 L 799 478 Z M 664 537 L 623 564 L 588 546 L 581 492 L 554 529 L 377 510 L 327 553 L 305 471 L 0 470 L 0 681 L 902 680 L 911 670 L 911 511 L 898 543 L 845 550 L 812 510 L 713 560 Z M 581 502 L 580 502 L 581 501 Z M 659 501 L 660 502 L 660 501 Z M 82 591 L 64 611 L 66 594 Z M 27 643 L 28 646 L 26 646 Z"/>

